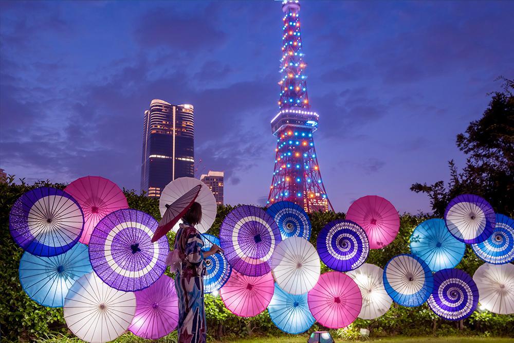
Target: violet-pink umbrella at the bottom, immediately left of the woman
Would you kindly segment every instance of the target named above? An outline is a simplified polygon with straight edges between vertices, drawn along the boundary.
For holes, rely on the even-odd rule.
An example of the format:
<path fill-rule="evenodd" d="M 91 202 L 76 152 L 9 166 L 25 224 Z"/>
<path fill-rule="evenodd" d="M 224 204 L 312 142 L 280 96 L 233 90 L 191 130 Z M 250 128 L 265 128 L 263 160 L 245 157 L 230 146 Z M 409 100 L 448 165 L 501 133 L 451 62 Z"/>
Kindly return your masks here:
<path fill-rule="evenodd" d="M 158 339 L 175 330 L 178 323 L 178 297 L 175 281 L 167 275 L 136 295 L 136 314 L 128 327 L 136 336 Z"/>

